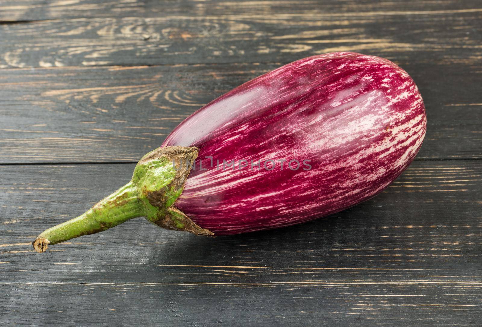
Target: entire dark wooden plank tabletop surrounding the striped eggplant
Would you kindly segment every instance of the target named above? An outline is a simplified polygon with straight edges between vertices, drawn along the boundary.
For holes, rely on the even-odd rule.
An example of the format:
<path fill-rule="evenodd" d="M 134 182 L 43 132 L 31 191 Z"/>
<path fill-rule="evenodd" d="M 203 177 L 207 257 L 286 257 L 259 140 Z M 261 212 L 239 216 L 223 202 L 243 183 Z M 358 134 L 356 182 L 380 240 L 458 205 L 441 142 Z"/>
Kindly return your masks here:
<path fill-rule="evenodd" d="M 427 107 L 422 150 L 379 196 L 269 232 L 139 218 L 31 248 L 203 104 L 345 50 L 400 65 Z M 481 77 L 478 0 L 2 0 L 1 325 L 480 324 Z"/>

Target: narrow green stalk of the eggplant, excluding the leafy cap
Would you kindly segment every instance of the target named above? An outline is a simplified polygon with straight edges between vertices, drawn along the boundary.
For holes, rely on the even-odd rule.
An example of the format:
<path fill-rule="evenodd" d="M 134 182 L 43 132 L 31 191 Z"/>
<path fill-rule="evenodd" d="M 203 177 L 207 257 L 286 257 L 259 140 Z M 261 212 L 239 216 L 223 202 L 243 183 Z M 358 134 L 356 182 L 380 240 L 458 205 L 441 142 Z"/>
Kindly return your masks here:
<path fill-rule="evenodd" d="M 107 196 L 77 218 L 42 232 L 32 243 L 41 253 L 49 244 L 57 244 L 82 235 L 94 234 L 144 215 L 145 206 L 132 182 Z"/>

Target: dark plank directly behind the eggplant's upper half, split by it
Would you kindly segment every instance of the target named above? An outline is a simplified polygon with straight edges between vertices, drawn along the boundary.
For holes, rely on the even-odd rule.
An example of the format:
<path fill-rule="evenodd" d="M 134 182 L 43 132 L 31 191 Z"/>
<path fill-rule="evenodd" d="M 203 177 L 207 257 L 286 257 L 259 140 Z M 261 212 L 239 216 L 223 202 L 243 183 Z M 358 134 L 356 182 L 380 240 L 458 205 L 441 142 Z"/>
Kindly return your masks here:
<path fill-rule="evenodd" d="M 424 97 L 418 159 L 482 157 L 482 65 L 400 63 Z M 0 71 L 0 163 L 136 162 L 215 97 L 277 64 Z"/>

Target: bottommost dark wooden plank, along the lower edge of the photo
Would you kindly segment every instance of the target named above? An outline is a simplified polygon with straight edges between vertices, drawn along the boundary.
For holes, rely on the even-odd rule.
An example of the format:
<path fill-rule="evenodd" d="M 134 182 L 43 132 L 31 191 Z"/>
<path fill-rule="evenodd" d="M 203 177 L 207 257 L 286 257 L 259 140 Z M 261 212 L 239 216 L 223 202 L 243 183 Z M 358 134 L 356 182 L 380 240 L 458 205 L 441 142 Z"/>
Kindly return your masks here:
<path fill-rule="evenodd" d="M 0 286 L 3 325 L 477 326 L 481 283 L 287 282 Z"/>

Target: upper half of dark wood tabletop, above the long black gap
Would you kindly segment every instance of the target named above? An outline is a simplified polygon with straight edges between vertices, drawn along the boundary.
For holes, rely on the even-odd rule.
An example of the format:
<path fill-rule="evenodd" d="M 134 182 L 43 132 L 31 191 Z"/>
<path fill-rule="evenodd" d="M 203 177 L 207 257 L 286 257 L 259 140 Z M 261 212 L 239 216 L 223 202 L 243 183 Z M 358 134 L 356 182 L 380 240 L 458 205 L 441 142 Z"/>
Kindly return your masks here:
<path fill-rule="evenodd" d="M 388 57 L 414 77 L 428 111 L 418 159 L 480 158 L 479 7 L 3 1 L 0 67 L 51 68 L 0 70 L 0 163 L 136 161 L 216 96 L 291 60 L 337 50 Z M 173 65 L 54 68 L 125 64 Z"/>

